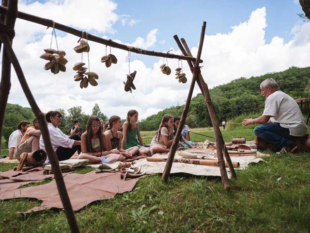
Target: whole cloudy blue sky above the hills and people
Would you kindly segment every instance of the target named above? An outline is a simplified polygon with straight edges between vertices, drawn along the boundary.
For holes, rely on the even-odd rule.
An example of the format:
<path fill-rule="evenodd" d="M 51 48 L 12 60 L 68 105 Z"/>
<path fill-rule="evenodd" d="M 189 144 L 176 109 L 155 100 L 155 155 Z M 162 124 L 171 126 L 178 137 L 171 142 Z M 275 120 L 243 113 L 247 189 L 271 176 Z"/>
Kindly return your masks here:
<path fill-rule="evenodd" d="M 303 13 L 298 0 L 20 0 L 18 10 L 146 50 L 181 54 L 173 39 L 177 34 L 186 39 L 194 56 L 206 21 L 202 76 L 209 88 L 240 77 L 310 66 L 310 23 L 296 15 Z M 163 58 L 111 48 L 118 63 L 107 68 L 100 62 L 106 46 L 90 41 L 89 64 L 87 53 L 83 62 L 99 75 L 99 84 L 81 89 L 72 69 L 81 61 L 81 54 L 73 50 L 77 36 L 56 30 L 59 50 L 66 52 L 68 63 L 66 72 L 54 75 L 43 69 L 47 61 L 39 58 L 50 47 L 52 29 L 16 19 L 15 30 L 13 49 L 42 112 L 82 106 L 91 114 L 98 103 L 108 117 L 125 118 L 128 110 L 136 109 L 143 119 L 185 103 L 192 77 L 185 61 L 168 59 L 172 72 L 167 76 L 159 68 Z M 55 38 L 52 48 L 56 49 Z M 137 89 L 132 93 L 124 91 L 128 65 L 130 72 L 137 70 Z M 181 65 L 185 84 L 174 75 Z M 14 71 L 11 82 L 8 102 L 29 107 Z M 198 93 L 196 86 L 193 97 Z"/>

